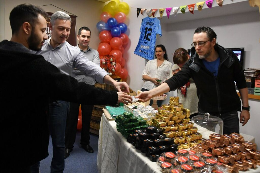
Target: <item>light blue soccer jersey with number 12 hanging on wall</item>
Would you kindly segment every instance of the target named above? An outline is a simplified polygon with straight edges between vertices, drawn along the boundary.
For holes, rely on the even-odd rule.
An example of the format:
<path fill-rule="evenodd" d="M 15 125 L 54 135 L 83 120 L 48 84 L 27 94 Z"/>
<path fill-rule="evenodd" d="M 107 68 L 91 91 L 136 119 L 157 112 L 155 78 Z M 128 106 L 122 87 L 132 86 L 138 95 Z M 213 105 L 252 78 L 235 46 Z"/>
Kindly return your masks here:
<path fill-rule="evenodd" d="M 162 36 L 161 23 L 157 18 L 146 17 L 142 19 L 140 28 L 140 38 L 135 48 L 134 54 L 148 60 L 154 59 L 154 47 L 156 36 Z"/>

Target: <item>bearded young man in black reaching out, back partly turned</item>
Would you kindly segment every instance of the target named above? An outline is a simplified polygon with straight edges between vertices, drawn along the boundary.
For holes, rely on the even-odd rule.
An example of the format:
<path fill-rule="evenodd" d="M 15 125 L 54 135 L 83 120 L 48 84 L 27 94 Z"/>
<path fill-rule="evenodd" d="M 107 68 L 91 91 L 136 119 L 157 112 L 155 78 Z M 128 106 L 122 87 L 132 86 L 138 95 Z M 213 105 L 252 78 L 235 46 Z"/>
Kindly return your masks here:
<path fill-rule="evenodd" d="M 30 172 L 48 156 L 48 98 L 84 104 L 131 102 L 123 92 L 109 92 L 61 74 L 39 51 L 46 35 L 46 13 L 31 4 L 10 13 L 12 38 L 0 42 L 1 172 Z"/>

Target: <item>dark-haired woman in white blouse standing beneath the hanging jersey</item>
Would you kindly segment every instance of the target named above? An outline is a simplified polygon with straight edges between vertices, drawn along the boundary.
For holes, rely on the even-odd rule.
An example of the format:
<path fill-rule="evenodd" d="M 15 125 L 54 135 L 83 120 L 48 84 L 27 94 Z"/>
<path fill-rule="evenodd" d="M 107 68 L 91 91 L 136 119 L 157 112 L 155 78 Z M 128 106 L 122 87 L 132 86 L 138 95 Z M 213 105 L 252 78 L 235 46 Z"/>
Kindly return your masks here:
<path fill-rule="evenodd" d="M 162 82 L 170 78 L 172 63 L 168 61 L 168 56 L 164 45 L 155 47 L 155 59 L 147 62 L 142 73 L 144 84 L 141 91 L 148 91 L 158 87 Z M 150 105 L 153 104 L 151 100 Z M 157 105 L 161 107 L 162 100 L 157 101 Z"/>

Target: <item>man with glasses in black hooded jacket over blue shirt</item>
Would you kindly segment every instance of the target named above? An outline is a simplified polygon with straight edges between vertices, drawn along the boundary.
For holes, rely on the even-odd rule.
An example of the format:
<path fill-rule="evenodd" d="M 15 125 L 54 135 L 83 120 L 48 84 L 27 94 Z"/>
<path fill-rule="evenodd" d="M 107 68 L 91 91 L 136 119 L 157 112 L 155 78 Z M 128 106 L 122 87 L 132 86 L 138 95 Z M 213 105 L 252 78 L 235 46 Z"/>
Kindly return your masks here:
<path fill-rule="evenodd" d="M 224 134 L 239 133 L 239 121 L 244 126 L 250 119 L 244 71 L 235 54 L 218 45 L 216 38 L 216 33 L 210 27 L 197 28 L 191 44 L 196 53 L 181 71 L 159 87 L 142 92 L 136 98 L 147 101 L 153 96 L 183 86 L 189 78 L 193 78 L 199 98 L 198 114 L 209 112 L 220 117 L 224 121 Z M 240 120 L 237 111 L 241 110 L 241 103 L 234 81 L 243 104 Z"/>

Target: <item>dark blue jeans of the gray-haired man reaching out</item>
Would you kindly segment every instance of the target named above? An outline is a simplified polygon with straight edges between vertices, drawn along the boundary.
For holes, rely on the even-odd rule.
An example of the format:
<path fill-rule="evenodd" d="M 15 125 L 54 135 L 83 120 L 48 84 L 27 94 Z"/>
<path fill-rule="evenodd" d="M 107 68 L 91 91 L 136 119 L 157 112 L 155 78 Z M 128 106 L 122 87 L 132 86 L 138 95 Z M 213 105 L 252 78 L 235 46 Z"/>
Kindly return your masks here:
<path fill-rule="evenodd" d="M 64 138 L 68 112 L 69 102 L 49 102 L 49 129 L 53 146 L 53 158 L 51 161 L 50 172 L 63 172 L 64 170 Z"/>

